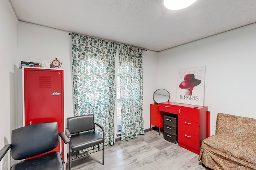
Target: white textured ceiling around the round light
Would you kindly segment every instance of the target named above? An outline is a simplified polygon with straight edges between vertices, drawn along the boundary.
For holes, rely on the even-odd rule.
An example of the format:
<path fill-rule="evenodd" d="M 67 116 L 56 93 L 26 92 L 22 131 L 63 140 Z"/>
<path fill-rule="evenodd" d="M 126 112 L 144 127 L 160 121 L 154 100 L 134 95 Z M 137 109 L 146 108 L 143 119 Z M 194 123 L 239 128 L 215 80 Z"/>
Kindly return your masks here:
<path fill-rule="evenodd" d="M 256 0 L 197 0 L 172 11 L 163 0 L 10 0 L 19 21 L 152 51 L 256 22 Z"/>

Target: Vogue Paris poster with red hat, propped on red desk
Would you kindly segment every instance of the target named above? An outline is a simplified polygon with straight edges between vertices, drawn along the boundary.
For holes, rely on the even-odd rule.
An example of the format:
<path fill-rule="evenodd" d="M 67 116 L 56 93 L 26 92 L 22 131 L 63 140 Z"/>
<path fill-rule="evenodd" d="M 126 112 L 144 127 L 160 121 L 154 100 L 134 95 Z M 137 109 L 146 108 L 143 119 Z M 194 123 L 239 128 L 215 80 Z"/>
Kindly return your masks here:
<path fill-rule="evenodd" d="M 176 102 L 204 106 L 205 66 L 180 68 Z"/>

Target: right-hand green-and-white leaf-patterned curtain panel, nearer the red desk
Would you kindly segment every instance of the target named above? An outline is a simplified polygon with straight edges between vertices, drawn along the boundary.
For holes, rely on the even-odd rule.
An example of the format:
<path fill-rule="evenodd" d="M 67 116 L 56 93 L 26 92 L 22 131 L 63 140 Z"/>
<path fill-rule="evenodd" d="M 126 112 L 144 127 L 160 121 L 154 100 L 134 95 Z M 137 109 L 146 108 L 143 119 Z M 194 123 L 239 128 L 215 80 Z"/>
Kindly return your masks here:
<path fill-rule="evenodd" d="M 144 134 L 142 49 L 119 46 L 121 88 L 121 140 Z"/>

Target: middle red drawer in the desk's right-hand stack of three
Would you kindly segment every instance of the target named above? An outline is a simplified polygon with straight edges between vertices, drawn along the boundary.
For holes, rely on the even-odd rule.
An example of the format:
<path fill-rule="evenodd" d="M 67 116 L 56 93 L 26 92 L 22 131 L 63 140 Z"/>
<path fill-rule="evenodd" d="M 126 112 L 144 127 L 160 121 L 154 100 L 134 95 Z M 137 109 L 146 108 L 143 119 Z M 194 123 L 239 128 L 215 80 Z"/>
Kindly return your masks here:
<path fill-rule="evenodd" d="M 178 119 L 178 126 L 180 131 L 190 133 L 197 137 L 199 136 L 199 123 L 185 119 Z"/>

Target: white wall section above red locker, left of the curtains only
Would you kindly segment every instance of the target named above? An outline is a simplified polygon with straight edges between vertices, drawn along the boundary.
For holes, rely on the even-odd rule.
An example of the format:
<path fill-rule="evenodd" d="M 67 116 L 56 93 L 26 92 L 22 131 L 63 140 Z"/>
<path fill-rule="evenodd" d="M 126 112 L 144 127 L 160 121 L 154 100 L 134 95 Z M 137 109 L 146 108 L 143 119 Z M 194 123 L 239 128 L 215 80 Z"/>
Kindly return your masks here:
<path fill-rule="evenodd" d="M 34 25 L 26 22 L 18 23 L 18 57 L 15 61 L 41 63 L 42 60 L 62 63 L 64 69 L 64 117 L 74 116 L 71 81 L 71 36 L 66 31 Z M 22 102 L 22 101 L 21 101 Z"/>

